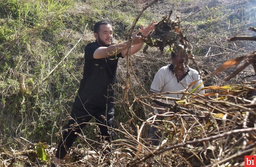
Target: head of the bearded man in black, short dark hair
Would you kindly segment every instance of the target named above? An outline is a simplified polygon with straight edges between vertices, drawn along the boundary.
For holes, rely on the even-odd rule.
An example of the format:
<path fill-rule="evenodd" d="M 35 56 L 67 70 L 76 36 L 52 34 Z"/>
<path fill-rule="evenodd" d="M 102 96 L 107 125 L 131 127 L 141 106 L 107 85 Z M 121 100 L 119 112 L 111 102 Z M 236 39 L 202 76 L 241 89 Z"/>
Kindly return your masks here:
<path fill-rule="evenodd" d="M 94 33 L 94 37 L 100 46 L 110 46 L 113 42 L 113 31 L 109 24 L 100 25 L 99 32 Z"/>

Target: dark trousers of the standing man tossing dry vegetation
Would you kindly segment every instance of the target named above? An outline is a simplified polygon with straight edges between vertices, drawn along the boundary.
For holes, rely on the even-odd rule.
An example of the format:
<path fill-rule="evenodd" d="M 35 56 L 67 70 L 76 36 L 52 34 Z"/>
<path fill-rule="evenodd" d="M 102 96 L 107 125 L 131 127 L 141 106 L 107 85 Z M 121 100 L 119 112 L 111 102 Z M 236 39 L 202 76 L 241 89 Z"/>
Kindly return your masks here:
<path fill-rule="evenodd" d="M 95 118 L 96 123 L 100 128 L 101 136 L 106 136 L 105 140 L 110 141 L 114 135 L 113 130 L 111 129 L 113 127 L 114 112 L 113 106 L 101 108 L 87 105 L 86 103 L 85 105 L 82 105 L 76 97 L 71 112 L 71 117 L 73 119 L 69 120 L 68 124 L 65 126 L 63 138 L 57 148 L 56 157 L 59 159 L 65 157 L 68 149 L 77 138 L 75 132 L 80 133 L 92 117 Z"/>

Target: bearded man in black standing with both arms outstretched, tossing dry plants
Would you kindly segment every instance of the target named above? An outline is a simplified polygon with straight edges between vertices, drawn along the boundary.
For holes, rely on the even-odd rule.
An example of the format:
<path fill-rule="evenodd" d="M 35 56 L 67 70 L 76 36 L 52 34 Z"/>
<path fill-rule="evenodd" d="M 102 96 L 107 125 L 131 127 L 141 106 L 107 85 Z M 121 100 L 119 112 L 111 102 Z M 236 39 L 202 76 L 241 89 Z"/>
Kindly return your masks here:
<path fill-rule="evenodd" d="M 144 29 L 141 35 L 147 36 L 154 29 L 155 22 Z M 132 35 L 131 54 L 143 46 L 138 29 Z M 60 141 L 55 163 L 67 158 L 67 151 L 72 146 L 81 129 L 94 117 L 105 140 L 113 137 L 114 90 L 118 58 L 126 57 L 129 41 L 113 44 L 113 31 L 109 22 L 103 20 L 94 25 L 95 42 L 85 47 L 84 75 L 75 97 L 71 112 L 72 120 L 66 125 L 63 140 Z M 105 118 L 104 118 L 105 117 Z M 110 128 L 108 128 L 110 127 Z M 55 166 L 52 163 L 52 166 Z"/>

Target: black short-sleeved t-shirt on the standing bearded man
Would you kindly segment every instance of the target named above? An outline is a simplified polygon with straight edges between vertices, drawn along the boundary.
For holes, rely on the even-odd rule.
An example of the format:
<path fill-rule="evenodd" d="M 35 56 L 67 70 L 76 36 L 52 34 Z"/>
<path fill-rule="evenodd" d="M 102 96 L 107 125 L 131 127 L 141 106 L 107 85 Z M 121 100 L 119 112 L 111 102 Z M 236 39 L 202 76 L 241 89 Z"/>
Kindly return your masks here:
<path fill-rule="evenodd" d="M 77 93 L 78 101 L 82 101 L 83 105 L 97 107 L 113 106 L 113 85 L 115 84 L 118 58 L 122 57 L 122 54 L 94 59 L 93 53 L 99 47 L 97 41 L 85 47 L 84 75 Z"/>

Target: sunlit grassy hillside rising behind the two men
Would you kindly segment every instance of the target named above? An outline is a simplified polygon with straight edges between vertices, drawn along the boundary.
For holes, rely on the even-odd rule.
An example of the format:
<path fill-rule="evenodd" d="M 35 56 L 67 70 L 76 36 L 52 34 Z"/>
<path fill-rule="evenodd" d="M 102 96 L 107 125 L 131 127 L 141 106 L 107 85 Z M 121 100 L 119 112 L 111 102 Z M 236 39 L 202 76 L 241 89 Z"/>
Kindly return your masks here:
<path fill-rule="evenodd" d="M 126 40 L 133 20 L 143 6 L 142 1 L 135 0 L 1 0 L 0 145 L 19 137 L 33 143 L 52 144 L 58 141 L 57 132 L 66 123 L 82 79 L 84 47 L 95 40 L 94 24 L 108 19 L 114 29 L 115 42 Z M 204 75 L 227 59 L 255 50 L 255 42 L 226 41 L 233 35 L 252 35 L 247 29 L 256 27 L 254 0 L 159 0 L 142 14 L 135 29 L 153 20 L 161 20 L 170 10 L 173 10 L 172 19 L 180 15 L 182 20 L 197 12 L 181 24 L 190 25 L 186 36 L 193 46 L 200 69 L 192 63 L 190 66 Z M 76 45 L 80 38 L 82 40 Z M 132 56 L 136 77 L 147 91 L 158 69 L 169 63 L 170 54 L 167 51 L 160 53 L 157 48 L 149 48 L 148 54 L 140 51 Z M 244 76 L 252 74 L 250 67 L 225 83 L 223 78 L 233 70 L 231 68 L 207 79 L 205 86 L 242 83 Z M 23 94 L 19 87 L 21 76 L 25 78 L 26 92 Z M 115 128 L 120 128 L 120 122 L 127 123 L 130 132 L 135 134 L 135 125 L 142 122 L 122 103 L 125 78 L 126 59 L 122 59 L 115 86 Z M 134 75 L 131 75 L 131 90 L 137 97 L 147 94 Z M 133 101 L 132 92 L 128 92 L 130 101 Z M 150 113 L 146 109 L 140 103 L 133 106 L 133 111 L 142 120 L 148 118 Z M 95 128 L 96 125 L 85 128 L 89 139 L 97 139 Z M 96 130 L 96 133 L 99 134 L 99 131 Z M 146 134 L 143 133 L 145 137 Z M 125 138 L 125 135 L 117 131 L 116 139 L 119 138 Z M 11 147 L 19 148 L 21 145 L 13 143 Z"/>

